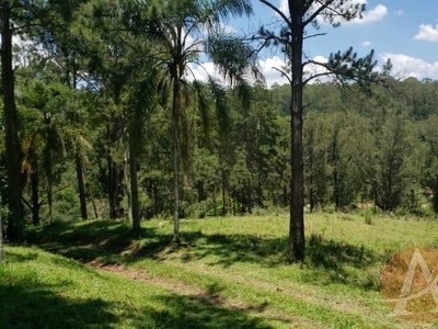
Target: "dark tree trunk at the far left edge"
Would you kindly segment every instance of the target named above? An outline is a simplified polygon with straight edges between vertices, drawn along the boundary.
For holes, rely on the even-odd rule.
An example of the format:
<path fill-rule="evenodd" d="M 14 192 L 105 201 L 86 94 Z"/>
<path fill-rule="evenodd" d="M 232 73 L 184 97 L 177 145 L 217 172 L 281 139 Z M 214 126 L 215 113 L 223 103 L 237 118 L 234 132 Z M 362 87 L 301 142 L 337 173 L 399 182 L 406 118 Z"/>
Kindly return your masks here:
<path fill-rule="evenodd" d="M 15 109 L 15 81 L 12 68 L 12 30 L 11 5 L 9 0 L 1 2 L 1 77 L 3 87 L 3 105 L 5 123 L 5 149 L 8 172 L 8 201 L 12 216 L 8 222 L 8 238 L 19 240 L 23 237 L 22 177 L 21 177 L 21 146 L 18 134 Z"/>

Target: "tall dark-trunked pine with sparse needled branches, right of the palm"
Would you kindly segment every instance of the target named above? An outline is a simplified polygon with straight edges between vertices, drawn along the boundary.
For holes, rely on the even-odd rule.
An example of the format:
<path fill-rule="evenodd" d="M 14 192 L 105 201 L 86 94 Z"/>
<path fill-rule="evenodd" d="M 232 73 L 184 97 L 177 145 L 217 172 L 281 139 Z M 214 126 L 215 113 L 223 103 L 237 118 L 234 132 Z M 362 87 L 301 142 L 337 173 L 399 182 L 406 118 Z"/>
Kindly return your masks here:
<path fill-rule="evenodd" d="M 316 63 L 306 59 L 303 53 L 304 41 L 318 34 L 310 35 L 307 29 L 318 27 L 319 21 L 327 21 L 332 25 L 339 25 L 341 21 L 350 21 L 361 16 L 365 5 L 353 0 L 288 0 L 287 9 L 277 8 L 273 1 L 260 0 L 280 18 L 280 31 L 268 31 L 264 26 L 260 30 L 260 37 L 267 44 L 280 46 L 288 59 L 289 67 L 279 69 L 290 82 L 291 94 L 291 205 L 289 226 L 289 256 L 292 261 L 304 259 L 304 175 L 303 175 L 303 87 L 312 79 L 333 75 L 342 80 L 360 80 L 373 78 L 373 52 L 365 58 L 358 58 L 353 49 L 344 54 L 336 53 L 330 56 L 327 63 Z M 304 68 L 310 65 L 322 66 L 323 73 L 304 76 Z"/>

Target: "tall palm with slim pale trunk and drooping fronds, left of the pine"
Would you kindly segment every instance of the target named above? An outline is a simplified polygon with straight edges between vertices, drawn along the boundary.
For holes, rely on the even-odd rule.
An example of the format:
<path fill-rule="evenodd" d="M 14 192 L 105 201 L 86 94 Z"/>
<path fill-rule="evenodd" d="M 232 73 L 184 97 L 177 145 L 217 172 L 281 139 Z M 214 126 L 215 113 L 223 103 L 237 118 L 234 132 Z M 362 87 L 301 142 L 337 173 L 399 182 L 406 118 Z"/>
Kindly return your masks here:
<path fill-rule="evenodd" d="M 201 117 L 206 118 L 205 88 L 196 80 L 193 66 L 203 68 L 201 56 L 211 59 L 224 80 L 240 90 L 247 102 L 247 77 L 255 73 L 255 53 L 242 39 L 221 25 L 230 16 L 251 15 L 249 0 L 180 0 L 137 1 L 142 15 L 134 15 L 131 23 L 145 36 L 157 43 L 157 58 L 164 68 L 160 82 L 163 94 L 172 97 L 172 162 L 173 162 L 173 241 L 180 242 L 180 169 L 186 160 L 181 140 L 184 135 L 185 95 L 198 99 Z M 205 69 L 209 93 L 222 128 L 227 126 L 227 89 Z M 189 83 L 188 81 L 194 81 Z"/>

